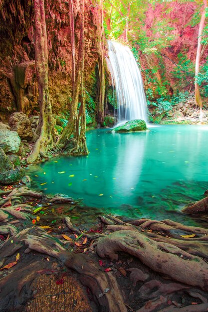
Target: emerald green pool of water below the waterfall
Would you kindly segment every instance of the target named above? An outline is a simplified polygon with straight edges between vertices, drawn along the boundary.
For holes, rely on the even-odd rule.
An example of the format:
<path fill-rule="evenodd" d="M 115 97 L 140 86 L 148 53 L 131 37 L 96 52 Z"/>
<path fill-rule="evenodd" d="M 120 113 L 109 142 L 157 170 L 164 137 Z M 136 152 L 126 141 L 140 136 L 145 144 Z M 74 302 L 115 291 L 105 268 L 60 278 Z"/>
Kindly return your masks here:
<path fill-rule="evenodd" d="M 208 189 L 208 126 L 153 126 L 128 134 L 92 130 L 87 146 L 88 156 L 53 157 L 29 167 L 33 187 L 82 198 L 89 213 L 97 207 L 188 223 L 189 217 L 173 210 L 201 199 Z"/>

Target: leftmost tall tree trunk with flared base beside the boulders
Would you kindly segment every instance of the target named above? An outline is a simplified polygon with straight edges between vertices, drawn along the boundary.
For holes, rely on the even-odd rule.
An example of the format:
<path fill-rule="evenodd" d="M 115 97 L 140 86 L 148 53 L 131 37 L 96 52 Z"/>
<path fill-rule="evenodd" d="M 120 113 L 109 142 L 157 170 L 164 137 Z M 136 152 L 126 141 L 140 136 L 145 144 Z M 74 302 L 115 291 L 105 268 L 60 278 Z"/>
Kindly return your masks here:
<path fill-rule="evenodd" d="M 37 157 L 46 156 L 48 149 L 53 146 L 53 117 L 48 90 L 48 48 L 45 24 L 44 0 L 34 0 L 35 15 L 35 67 L 37 73 L 40 117 L 35 130 L 34 139 L 37 140 L 33 152 L 27 158 L 31 163 Z"/>

